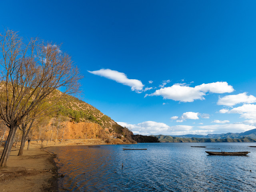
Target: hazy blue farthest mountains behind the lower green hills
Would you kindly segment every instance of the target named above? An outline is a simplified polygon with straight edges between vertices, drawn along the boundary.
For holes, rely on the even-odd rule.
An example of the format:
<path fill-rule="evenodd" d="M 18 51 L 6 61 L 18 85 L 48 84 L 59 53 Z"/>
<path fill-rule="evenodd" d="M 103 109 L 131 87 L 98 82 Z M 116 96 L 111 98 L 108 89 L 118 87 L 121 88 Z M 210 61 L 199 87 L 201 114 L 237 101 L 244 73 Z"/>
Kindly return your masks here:
<path fill-rule="evenodd" d="M 222 134 L 208 134 L 208 135 L 171 135 L 172 137 L 178 137 L 178 138 L 212 138 L 212 139 L 240 139 L 244 137 L 254 138 L 256 139 L 256 129 L 252 129 L 243 133 L 222 133 Z"/>

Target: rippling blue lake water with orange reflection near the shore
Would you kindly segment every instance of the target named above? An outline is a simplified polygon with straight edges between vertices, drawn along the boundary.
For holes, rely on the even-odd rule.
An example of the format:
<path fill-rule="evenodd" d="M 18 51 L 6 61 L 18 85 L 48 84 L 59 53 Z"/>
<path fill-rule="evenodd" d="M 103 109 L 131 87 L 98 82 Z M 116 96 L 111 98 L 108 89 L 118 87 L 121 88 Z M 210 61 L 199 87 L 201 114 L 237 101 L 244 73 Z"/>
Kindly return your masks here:
<path fill-rule="evenodd" d="M 141 143 L 48 150 L 57 154 L 59 174 L 65 175 L 59 180 L 60 192 L 255 192 L 256 148 L 248 145 L 256 144 Z M 122 150 L 133 147 L 147 150 Z M 206 150 L 250 153 L 212 156 Z"/>

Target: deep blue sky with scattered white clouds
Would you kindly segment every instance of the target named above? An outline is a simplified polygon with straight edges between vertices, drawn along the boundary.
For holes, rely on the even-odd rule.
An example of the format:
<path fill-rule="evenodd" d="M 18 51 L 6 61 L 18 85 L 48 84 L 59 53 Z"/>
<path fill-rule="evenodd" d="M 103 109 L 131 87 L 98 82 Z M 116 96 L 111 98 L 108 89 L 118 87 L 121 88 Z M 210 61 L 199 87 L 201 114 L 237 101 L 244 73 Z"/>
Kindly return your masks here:
<path fill-rule="evenodd" d="M 134 134 L 256 128 L 256 2 L 1 1 L 0 24 L 62 44 L 82 100 Z"/>

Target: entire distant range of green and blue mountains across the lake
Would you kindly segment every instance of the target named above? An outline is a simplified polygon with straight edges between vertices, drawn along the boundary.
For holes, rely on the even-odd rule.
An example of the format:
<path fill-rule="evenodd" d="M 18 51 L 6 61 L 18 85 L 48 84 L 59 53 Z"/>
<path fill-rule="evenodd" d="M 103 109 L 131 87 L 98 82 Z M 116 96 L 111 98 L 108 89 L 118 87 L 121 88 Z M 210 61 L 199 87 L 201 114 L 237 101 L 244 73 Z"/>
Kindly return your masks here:
<path fill-rule="evenodd" d="M 256 142 L 256 129 L 243 133 L 208 134 L 208 135 L 150 135 L 160 142 Z"/>

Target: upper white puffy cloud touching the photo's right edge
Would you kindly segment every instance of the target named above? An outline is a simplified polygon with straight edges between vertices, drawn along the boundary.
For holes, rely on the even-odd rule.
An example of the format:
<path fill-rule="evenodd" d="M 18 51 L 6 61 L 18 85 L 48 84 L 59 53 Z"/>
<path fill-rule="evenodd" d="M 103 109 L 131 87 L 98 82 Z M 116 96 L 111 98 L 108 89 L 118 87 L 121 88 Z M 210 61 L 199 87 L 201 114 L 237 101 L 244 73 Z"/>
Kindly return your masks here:
<path fill-rule="evenodd" d="M 256 102 L 256 97 L 253 95 L 247 96 L 247 93 L 240 93 L 237 95 L 227 95 L 222 98 L 219 98 L 217 105 L 224 105 L 224 106 L 234 106 L 239 103 L 254 103 Z"/>

